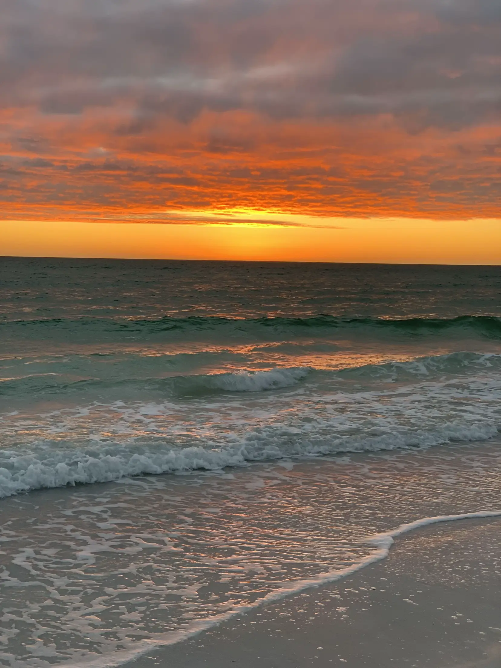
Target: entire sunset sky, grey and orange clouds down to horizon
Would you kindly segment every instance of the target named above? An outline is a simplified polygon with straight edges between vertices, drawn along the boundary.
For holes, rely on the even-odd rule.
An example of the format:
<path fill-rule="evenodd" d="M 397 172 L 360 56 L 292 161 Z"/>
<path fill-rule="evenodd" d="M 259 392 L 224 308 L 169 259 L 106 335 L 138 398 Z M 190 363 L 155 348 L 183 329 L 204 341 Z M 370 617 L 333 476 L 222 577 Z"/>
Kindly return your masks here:
<path fill-rule="evenodd" d="M 501 264 L 499 0 L 0 0 L 0 254 Z"/>

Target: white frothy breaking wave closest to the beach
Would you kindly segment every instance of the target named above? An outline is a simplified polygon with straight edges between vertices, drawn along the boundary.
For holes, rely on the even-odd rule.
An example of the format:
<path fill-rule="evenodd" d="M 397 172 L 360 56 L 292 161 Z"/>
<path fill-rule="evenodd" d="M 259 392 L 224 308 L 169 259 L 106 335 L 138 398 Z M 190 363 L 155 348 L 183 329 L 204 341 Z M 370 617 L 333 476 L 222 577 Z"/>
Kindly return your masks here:
<path fill-rule="evenodd" d="M 500 426 L 501 430 L 501 426 Z M 260 428 L 220 448 L 176 447 L 164 442 L 155 448 L 134 444 L 61 449 L 43 441 L 31 450 L 0 451 L 0 498 L 43 488 L 110 482 L 144 474 L 214 471 L 288 458 L 308 458 L 341 453 L 382 452 L 406 448 L 430 448 L 451 442 L 485 441 L 498 435 L 492 420 L 445 422 L 433 430 L 390 432 L 370 429 L 365 434 L 315 434 L 278 426 L 277 432 Z"/>

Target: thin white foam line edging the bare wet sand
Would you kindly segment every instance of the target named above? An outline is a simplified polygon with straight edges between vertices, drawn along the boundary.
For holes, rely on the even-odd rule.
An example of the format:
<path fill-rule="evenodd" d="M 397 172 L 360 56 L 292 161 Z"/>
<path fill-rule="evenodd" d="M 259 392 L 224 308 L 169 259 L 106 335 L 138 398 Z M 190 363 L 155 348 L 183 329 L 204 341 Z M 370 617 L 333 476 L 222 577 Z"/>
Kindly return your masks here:
<path fill-rule="evenodd" d="M 280 599 L 285 599 L 287 597 L 299 594 L 305 589 L 311 589 L 313 587 L 319 587 L 321 585 L 327 585 L 331 582 L 336 582 L 341 580 L 349 575 L 353 575 L 357 571 L 365 568 L 365 566 L 370 566 L 375 564 L 378 561 L 385 559 L 389 554 L 389 549 L 393 545 L 395 538 L 403 534 L 419 529 L 422 526 L 428 526 L 428 524 L 438 524 L 439 522 L 454 522 L 456 520 L 476 520 L 482 518 L 493 518 L 501 517 L 501 510 L 480 510 L 479 512 L 468 512 L 460 515 L 438 515 L 436 517 L 424 517 L 420 520 L 414 520 L 413 522 L 408 522 L 407 524 L 401 524 L 395 529 L 391 529 L 387 532 L 381 534 L 373 534 L 368 536 L 363 540 L 363 544 L 373 545 L 377 549 L 374 550 L 369 556 L 365 557 L 361 561 L 347 566 L 347 568 L 341 568 L 339 570 L 329 570 L 325 573 L 321 573 L 313 578 L 307 578 L 303 580 L 296 580 L 290 582 L 289 585 L 284 585 L 273 592 L 270 592 L 259 601 L 251 603 L 248 605 L 239 605 L 234 607 L 234 609 L 221 613 L 220 615 L 214 615 L 209 619 L 200 619 L 183 631 L 174 631 L 166 634 L 161 634 L 156 639 L 148 639 L 138 643 L 138 647 L 135 651 L 126 651 L 124 653 L 114 653 L 110 657 L 100 657 L 99 659 L 94 659 L 92 661 L 77 661 L 71 662 L 72 668 L 115 668 L 118 665 L 124 665 L 129 661 L 134 661 L 142 655 L 154 651 L 159 647 L 168 647 L 168 645 L 176 645 L 182 641 L 187 640 L 202 631 L 206 631 L 211 627 L 218 626 L 219 624 L 228 621 L 236 615 L 246 615 L 246 613 L 253 611 L 267 603 L 272 603 L 273 601 L 279 601 Z M 61 665 L 61 664 L 59 664 Z M 69 665 L 69 664 L 62 664 Z M 131 666 L 133 668 L 133 666 Z"/>

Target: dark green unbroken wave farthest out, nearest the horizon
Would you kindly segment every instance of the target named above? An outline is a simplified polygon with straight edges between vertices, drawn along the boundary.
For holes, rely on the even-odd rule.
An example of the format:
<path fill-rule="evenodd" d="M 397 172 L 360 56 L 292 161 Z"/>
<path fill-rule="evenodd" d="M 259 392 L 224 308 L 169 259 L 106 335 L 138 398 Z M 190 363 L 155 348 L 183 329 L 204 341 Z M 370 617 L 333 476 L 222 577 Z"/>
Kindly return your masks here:
<path fill-rule="evenodd" d="M 160 319 L 104 319 L 81 317 L 77 319 L 31 319 L 11 320 L 0 323 L 0 331 L 12 331 L 21 336 L 29 335 L 35 330 L 38 334 L 54 334 L 56 331 L 72 331 L 84 334 L 86 338 L 93 332 L 108 334 L 134 335 L 166 335 L 195 334 L 200 332 L 226 331 L 228 333 L 296 333 L 352 330 L 359 333 L 385 333 L 393 331 L 403 335 L 430 335 L 444 332 L 470 333 L 501 339 L 501 317 L 494 315 L 460 315 L 454 318 L 412 317 L 401 319 L 374 317 L 335 317 L 320 314 L 311 317 L 261 317 L 261 318 L 227 318 L 188 316 L 176 318 L 165 316 Z"/>

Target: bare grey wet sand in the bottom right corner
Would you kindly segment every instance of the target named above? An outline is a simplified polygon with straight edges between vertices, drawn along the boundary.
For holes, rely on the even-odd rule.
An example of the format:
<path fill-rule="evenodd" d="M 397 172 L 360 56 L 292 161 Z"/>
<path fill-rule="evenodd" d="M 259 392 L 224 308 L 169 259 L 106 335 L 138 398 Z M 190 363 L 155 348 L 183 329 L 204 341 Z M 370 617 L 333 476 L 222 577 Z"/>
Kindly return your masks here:
<path fill-rule="evenodd" d="M 150 651 L 129 668 L 501 668 L 501 521 L 434 524 L 321 589 Z"/>

